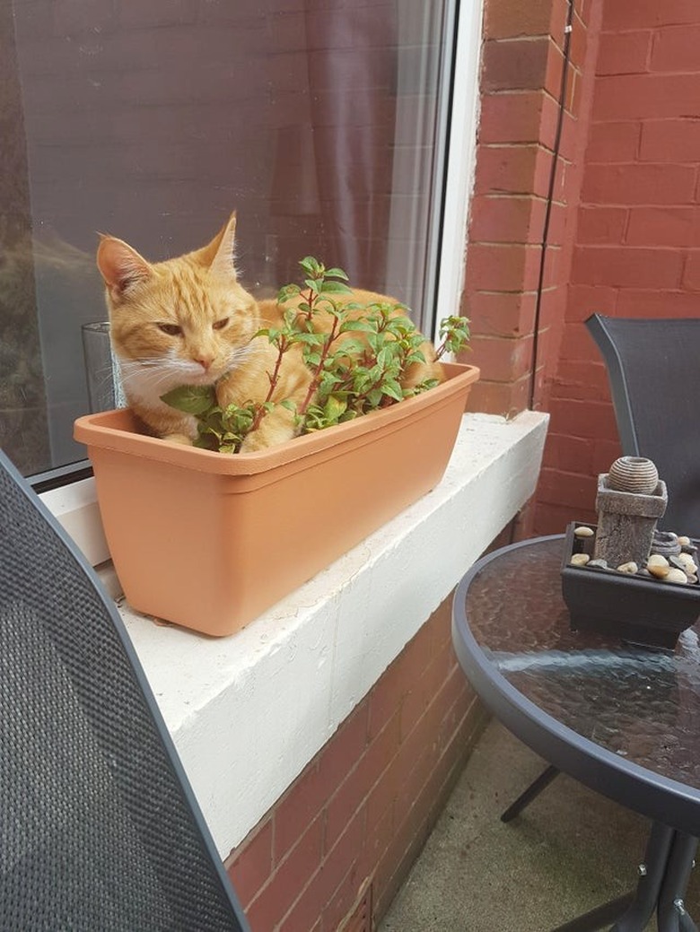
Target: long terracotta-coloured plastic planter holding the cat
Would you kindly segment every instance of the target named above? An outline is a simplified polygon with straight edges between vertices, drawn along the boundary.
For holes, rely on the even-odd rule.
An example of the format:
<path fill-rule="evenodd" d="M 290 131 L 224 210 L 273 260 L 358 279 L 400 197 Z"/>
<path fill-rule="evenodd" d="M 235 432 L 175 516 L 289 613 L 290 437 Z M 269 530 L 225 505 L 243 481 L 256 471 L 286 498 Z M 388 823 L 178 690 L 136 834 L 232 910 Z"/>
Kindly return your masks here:
<path fill-rule="evenodd" d="M 416 398 L 237 456 L 144 436 L 126 409 L 78 418 L 130 605 L 232 634 L 430 491 L 479 377 L 446 371 Z"/>

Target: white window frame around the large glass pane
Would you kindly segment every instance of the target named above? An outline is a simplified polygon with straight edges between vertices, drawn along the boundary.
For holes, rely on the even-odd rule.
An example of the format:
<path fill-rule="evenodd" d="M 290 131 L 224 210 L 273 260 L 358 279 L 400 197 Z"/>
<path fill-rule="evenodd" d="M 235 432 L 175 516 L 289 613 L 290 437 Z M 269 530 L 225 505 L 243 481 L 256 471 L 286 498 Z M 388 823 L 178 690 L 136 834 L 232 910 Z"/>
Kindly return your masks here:
<path fill-rule="evenodd" d="M 474 185 L 482 12 L 483 0 L 462 0 L 459 5 L 452 106 L 446 115 L 450 131 L 442 237 L 436 263 L 438 322 L 459 313 L 464 282 L 467 219 Z M 109 559 L 94 479 L 50 489 L 41 498 L 93 566 Z"/>

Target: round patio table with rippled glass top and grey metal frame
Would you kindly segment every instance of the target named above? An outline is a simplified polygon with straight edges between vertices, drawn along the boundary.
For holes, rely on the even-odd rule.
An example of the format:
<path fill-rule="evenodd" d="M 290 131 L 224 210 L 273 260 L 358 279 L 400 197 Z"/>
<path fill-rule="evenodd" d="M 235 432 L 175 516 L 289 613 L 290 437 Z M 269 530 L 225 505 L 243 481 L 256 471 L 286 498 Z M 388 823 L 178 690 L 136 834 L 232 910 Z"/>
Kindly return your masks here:
<path fill-rule="evenodd" d="M 700 625 L 675 651 L 571 631 L 563 542 L 474 565 L 454 597 L 455 651 L 496 718 L 550 764 L 519 808 L 563 771 L 652 820 L 637 889 L 556 932 L 641 932 L 654 911 L 659 932 L 697 932 L 683 896 L 700 836 Z"/>

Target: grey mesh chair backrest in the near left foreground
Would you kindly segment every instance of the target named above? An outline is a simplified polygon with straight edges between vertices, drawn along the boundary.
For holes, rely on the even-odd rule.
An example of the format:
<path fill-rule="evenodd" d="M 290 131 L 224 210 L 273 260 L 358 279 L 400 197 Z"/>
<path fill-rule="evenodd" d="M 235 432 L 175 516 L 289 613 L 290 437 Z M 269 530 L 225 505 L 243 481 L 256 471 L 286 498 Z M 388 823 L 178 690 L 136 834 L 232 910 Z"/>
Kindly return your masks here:
<path fill-rule="evenodd" d="M 2 453 L 0 917 L 248 930 L 114 604 Z"/>

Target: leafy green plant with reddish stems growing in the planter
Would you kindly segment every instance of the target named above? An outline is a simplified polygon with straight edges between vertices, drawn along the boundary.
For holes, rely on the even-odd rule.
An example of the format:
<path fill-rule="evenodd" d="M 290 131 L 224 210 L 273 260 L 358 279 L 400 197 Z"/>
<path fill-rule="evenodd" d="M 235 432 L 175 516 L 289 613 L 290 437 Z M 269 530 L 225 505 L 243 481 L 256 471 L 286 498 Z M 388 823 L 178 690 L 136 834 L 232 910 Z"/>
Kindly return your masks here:
<path fill-rule="evenodd" d="M 267 337 L 277 350 L 272 371 L 268 372 L 268 394 L 262 402 L 222 408 L 214 385 L 180 386 L 162 396 L 166 404 L 197 418 L 196 446 L 222 453 L 239 452 L 246 434 L 254 431 L 275 407 L 272 398 L 282 359 L 294 346 L 301 348 L 309 366 L 309 390 L 298 406 L 289 400 L 277 404 L 294 410 L 299 433 L 332 427 L 438 384 L 437 379 L 427 378 L 413 388 L 402 388 L 407 367 L 425 362 L 420 349 L 425 338 L 401 313 L 407 310 L 405 305 L 349 303 L 347 295 L 352 290 L 342 268 L 326 268 L 313 256 L 302 259 L 299 265 L 304 273 L 303 285 L 285 285 L 278 295 L 281 307 L 292 299 L 295 306 L 284 308 L 281 326 L 264 327 L 255 335 Z M 315 326 L 315 318 L 322 311 L 330 318 L 327 331 Z M 360 317 L 356 316 L 358 312 Z M 469 337 L 467 318 L 446 318 L 440 324 L 441 343 L 436 358 L 464 349 Z"/>

